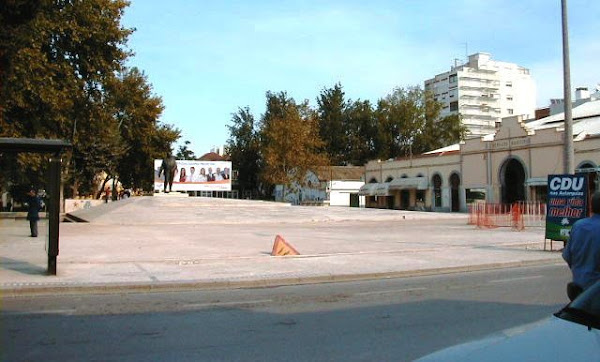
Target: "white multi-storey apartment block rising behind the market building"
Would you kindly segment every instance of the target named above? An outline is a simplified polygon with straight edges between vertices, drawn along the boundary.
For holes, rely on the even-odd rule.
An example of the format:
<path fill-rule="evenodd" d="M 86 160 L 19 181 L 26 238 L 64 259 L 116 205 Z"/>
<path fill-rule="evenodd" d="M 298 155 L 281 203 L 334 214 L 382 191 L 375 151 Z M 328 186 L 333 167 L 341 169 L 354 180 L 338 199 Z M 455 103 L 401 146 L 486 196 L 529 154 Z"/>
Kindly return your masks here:
<path fill-rule="evenodd" d="M 533 118 L 535 83 L 529 69 L 476 53 L 469 61 L 425 81 L 443 104 L 441 117 L 460 114 L 468 137 L 494 133 L 504 117 Z"/>

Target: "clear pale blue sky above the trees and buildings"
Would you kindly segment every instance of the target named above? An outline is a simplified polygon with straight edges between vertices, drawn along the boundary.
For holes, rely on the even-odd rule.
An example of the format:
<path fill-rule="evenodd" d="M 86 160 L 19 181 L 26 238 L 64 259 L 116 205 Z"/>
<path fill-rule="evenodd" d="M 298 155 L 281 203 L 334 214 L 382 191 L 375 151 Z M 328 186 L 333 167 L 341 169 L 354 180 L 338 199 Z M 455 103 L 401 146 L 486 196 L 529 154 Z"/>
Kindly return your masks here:
<path fill-rule="evenodd" d="M 572 88 L 600 83 L 600 1 L 570 0 Z M 166 107 L 162 121 L 202 155 L 239 107 L 267 91 L 315 99 L 340 82 L 375 102 L 487 52 L 531 70 L 537 105 L 562 98 L 560 0 L 131 0 L 129 48 Z"/>

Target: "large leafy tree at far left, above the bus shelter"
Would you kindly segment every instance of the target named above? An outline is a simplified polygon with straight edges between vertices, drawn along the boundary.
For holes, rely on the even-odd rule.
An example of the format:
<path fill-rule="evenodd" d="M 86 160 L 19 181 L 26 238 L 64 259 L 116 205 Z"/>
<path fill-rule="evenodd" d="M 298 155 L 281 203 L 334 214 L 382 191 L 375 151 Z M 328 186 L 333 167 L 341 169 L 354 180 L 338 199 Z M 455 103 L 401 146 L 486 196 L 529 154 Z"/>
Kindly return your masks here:
<path fill-rule="evenodd" d="M 0 21 L 0 33 L 9 34 L 0 44 L 0 134 L 71 141 L 75 185 L 104 161 L 106 145 L 118 143 L 106 129 L 102 91 L 128 55 L 131 30 L 120 26 L 126 5 L 21 0 L 2 7 L 2 20 L 18 14 L 19 21 Z"/>

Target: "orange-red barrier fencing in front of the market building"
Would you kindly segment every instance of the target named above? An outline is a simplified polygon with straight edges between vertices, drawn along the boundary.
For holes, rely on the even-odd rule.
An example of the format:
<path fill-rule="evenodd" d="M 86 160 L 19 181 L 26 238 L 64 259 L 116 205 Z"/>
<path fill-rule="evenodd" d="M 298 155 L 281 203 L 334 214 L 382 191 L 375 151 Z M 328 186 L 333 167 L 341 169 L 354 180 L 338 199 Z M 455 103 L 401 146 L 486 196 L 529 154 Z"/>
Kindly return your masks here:
<path fill-rule="evenodd" d="M 470 225 L 496 228 L 511 227 L 523 230 L 526 227 L 546 225 L 546 204 L 542 202 L 515 202 L 514 204 L 475 203 L 469 205 Z"/>

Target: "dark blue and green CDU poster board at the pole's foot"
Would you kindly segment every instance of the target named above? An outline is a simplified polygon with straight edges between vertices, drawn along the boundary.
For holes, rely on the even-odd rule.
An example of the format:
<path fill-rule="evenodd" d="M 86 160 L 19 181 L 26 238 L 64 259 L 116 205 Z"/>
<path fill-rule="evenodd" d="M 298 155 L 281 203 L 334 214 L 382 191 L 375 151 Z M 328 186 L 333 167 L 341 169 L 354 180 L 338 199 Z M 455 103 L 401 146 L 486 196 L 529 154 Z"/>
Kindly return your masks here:
<path fill-rule="evenodd" d="M 548 175 L 546 239 L 567 241 L 573 223 L 587 217 L 585 174 Z"/>

